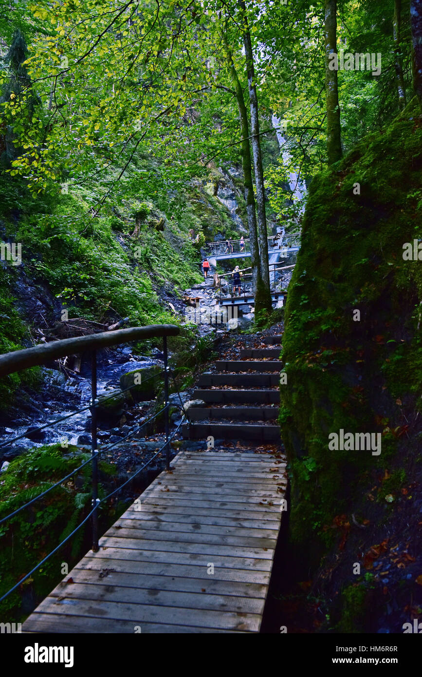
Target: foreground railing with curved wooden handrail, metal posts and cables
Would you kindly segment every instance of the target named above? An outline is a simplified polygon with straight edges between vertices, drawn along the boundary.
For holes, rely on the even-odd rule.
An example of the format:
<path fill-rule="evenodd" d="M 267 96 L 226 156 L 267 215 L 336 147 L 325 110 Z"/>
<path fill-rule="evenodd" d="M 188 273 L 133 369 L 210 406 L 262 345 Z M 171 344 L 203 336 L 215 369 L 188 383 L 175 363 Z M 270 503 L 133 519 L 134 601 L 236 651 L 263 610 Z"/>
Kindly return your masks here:
<path fill-rule="evenodd" d="M 183 423 L 183 420 L 185 416 L 183 416 L 181 422 L 177 426 L 177 428 L 174 430 L 174 433 L 172 433 L 171 436 L 169 436 L 169 416 L 168 416 L 168 410 L 170 407 L 170 403 L 168 400 L 168 374 L 169 374 L 169 369 L 168 369 L 168 350 L 167 350 L 167 337 L 168 336 L 177 336 L 177 334 L 180 333 L 180 328 L 174 324 L 153 324 L 150 326 L 146 327 L 131 327 L 128 329 L 118 329 L 116 331 L 109 331 L 109 332 L 99 332 L 97 334 L 91 334 L 89 336 L 76 336 L 73 339 L 63 339 L 62 341 L 54 341 L 53 343 L 43 343 L 40 345 L 36 345 L 32 348 L 27 348 L 24 350 L 17 350 L 13 351 L 11 353 L 5 353 L 3 355 L 0 355 L 0 376 L 8 376 L 9 374 L 13 374 L 14 372 L 18 372 L 22 369 L 27 369 L 29 367 L 34 367 L 34 366 L 41 366 L 43 364 L 47 364 L 51 362 L 53 359 L 57 359 L 58 357 L 65 357 L 66 355 L 74 355 L 75 353 L 82 353 L 84 351 L 91 351 L 91 402 L 88 407 L 85 407 L 83 409 L 79 409 L 76 412 L 73 412 L 72 414 L 69 414 L 68 416 L 64 416 L 62 418 L 59 418 L 57 420 L 54 420 L 51 423 L 48 423 L 42 427 L 40 427 L 37 430 L 43 430 L 47 427 L 52 427 L 58 422 L 65 420 L 67 418 L 71 418 L 72 416 L 75 416 L 76 414 L 83 412 L 83 411 L 91 411 L 91 457 L 88 460 L 85 460 L 80 466 L 78 466 L 72 473 L 69 473 L 66 475 L 66 477 L 62 477 L 62 479 L 58 480 L 57 482 L 53 483 L 51 486 L 49 486 L 45 491 L 41 492 L 34 498 L 32 498 L 30 501 L 28 501 L 26 504 L 20 506 L 20 508 L 17 508 L 13 512 L 11 512 L 9 515 L 6 515 L 2 519 L 0 519 L 0 525 L 9 521 L 12 517 L 18 514 L 18 512 L 21 512 L 21 510 L 24 510 L 24 508 L 28 508 L 28 506 L 32 505 L 34 502 L 48 494 L 49 492 L 52 491 L 52 489 L 55 489 L 65 481 L 67 481 L 70 477 L 76 475 L 82 468 L 84 468 L 87 464 L 92 464 L 92 479 L 91 479 L 91 496 L 92 496 L 92 509 L 90 510 L 89 514 L 83 521 L 76 527 L 76 529 L 73 529 L 72 533 L 70 533 L 60 544 L 58 544 L 47 556 L 44 557 L 44 559 L 39 562 L 37 565 L 35 565 L 31 571 L 29 571 L 24 577 L 20 578 L 19 582 L 10 588 L 10 590 L 7 590 L 5 594 L 3 594 L 0 597 L 0 602 L 2 602 L 11 592 L 14 592 L 17 588 L 22 586 L 24 581 L 28 579 L 34 573 L 39 569 L 43 564 L 53 555 L 57 550 L 59 550 L 62 546 L 64 546 L 65 543 L 67 543 L 72 536 L 80 529 L 80 527 L 83 527 L 83 525 L 91 518 L 92 522 L 92 540 L 93 540 L 93 546 L 92 550 L 93 552 L 97 552 L 98 550 L 98 508 L 100 504 L 106 502 L 106 500 L 110 499 L 112 496 L 115 494 L 118 494 L 118 492 L 121 491 L 123 487 L 125 487 L 128 483 L 130 483 L 141 471 L 143 471 L 153 460 L 155 460 L 164 450 L 166 453 L 166 468 L 170 468 L 170 441 L 176 435 L 177 431 L 179 430 L 181 424 Z M 146 339 L 154 339 L 162 337 L 163 339 L 163 362 L 164 362 L 164 369 L 159 372 L 158 374 L 154 374 L 154 376 L 151 376 L 143 381 L 143 383 L 146 383 L 147 380 L 152 380 L 154 378 L 159 378 L 160 376 L 164 375 L 164 407 L 156 412 L 153 416 L 150 416 L 145 420 L 137 429 L 129 433 L 129 435 L 126 435 L 126 437 L 123 437 L 121 440 L 119 440 L 116 443 L 106 445 L 101 449 L 101 453 L 103 452 L 108 452 L 112 447 L 114 447 L 116 444 L 120 444 L 122 441 L 125 439 L 131 439 L 134 435 L 138 435 L 139 431 L 145 427 L 147 424 L 151 422 L 151 420 L 154 420 L 160 414 L 164 414 L 164 431 L 165 431 L 165 443 L 162 445 L 162 447 L 158 450 L 152 458 L 150 458 L 141 468 L 139 468 L 131 477 L 129 477 L 124 483 L 122 483 L 119 487 L 114 489 L 108 496 L 105 496 L 101 500 L 98 498 L 98 458 L 99 458 L 99 451 L 97 450 L 97 408 L 99 406 L 99 401 L 97 399 L 97 350 L 105 347 L 110 347 L 113 345 L 120 345 L 121 343 L 128 343 L 129 341 L 137 341 L 137 340 L 146 340 Z M 132 388 L 136 387 L 139 385 L 138 381 L 135 380 L 134 378 L 134 383 L 133 385 L 129 386 L 128 388 L 124 389 L 122 392 L 129 391 Z M 111 395 L 108 396 L 101 396 L 101 401 L 103 402 L 105 399 L 108 399 L 109 397 L 114 397 L 115 393 L 112 393 Z M 16 441 L 17 439 L 21 439 L 24 437 L 24 435 L 20 435 L 19 437 L 15 437 L 14 439 L 8 440 L 6 443 L 0 444 L 0 447 L 5 447 L 9 446 L 11 442 Z"/>

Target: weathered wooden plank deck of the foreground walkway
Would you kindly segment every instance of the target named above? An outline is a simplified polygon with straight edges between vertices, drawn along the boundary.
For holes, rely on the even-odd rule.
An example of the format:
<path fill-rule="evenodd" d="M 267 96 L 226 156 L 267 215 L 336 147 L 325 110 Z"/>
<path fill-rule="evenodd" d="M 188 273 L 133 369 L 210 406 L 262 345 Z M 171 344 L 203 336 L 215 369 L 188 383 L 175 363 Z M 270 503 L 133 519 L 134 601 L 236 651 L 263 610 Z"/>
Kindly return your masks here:
<path fill-rule="evenodd" d="M 172 468 L 35 609 L 23 632 L 259 632 L 285 462 L 181 452 Z"/>

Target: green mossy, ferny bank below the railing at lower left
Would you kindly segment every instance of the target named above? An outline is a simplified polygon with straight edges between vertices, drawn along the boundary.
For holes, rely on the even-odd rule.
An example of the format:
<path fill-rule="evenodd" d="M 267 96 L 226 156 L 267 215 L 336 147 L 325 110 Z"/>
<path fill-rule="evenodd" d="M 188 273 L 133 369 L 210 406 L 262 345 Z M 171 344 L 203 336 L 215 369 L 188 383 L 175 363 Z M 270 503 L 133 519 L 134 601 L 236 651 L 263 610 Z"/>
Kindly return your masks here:
<path fill-rule="evenodd" d="M 60 445 L 51 445 L 30 450 L 12 460 L 1 474 L 0 519 L 71 473 L 87 458 L 89 454 L 80 453 L 77 447 L 63 450 Z M 110 473 L 109 466 L 103 462 L 99 463 L 99 469 L 100 473 Z M 82 482 L 76 481 L 75 477 L 81 478 Z M 91 464 L 87 464 L 76 476 L 0 525 L 0 596 L 64 540 L 87 515 L 91 509 L 90 477 Z M 100 483 L 100 498 L 103 495 Z M 22 599 L 29 590 L 35 598 L 42 598 L 51 591 L 62 579 L 62 562 L 71 566 L 80 558 L 84 533 L 85 527 L 1 603 L 4 619 L 16 621 L 22 617 Z"/>

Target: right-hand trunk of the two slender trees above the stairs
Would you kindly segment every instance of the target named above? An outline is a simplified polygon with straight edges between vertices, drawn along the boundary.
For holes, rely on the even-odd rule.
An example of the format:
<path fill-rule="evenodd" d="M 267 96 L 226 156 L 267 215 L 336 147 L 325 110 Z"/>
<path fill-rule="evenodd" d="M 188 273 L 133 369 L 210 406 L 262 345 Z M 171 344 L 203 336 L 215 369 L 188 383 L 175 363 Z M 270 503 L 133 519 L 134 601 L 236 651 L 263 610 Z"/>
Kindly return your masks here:
<path fill-rule="evenodd" d="M 245 47 L 246 69 L 248 72 L 248 88 L 251 114 L 251 135 L 252 152 L 254 154 L 254 170 L 256 185 L 256 204 L 258 215 L 258 242 L 260 250 L 260 269 L 262 284 L 258 285 L 255 296 L 256 305 L 260 309 L 271 311 L 272 301 L 270 292 L 270 271 L 268 266 L 268 233 L 266 232 L 266 214 L 265 214 L 265 190 L 264 190 L 264 171 L 262 169 L 261 142 L 258 120 L 258 96 L 256 95 L 254 55 L 252 53 L 252 40 L 246 16 L 246 7 L 244 0 L 239 0 L 241 15 L 243 20 L 243 45 Z"/>

